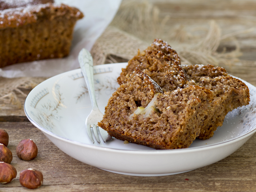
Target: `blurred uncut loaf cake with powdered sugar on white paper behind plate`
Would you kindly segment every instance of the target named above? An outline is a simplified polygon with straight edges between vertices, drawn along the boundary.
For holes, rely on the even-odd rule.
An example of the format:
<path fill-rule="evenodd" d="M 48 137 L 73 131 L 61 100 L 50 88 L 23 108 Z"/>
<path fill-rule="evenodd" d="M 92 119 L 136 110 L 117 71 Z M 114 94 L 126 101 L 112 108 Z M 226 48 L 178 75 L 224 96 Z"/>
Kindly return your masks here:
<path fill-rule="evenodd" d="M 8 8 L 3 2 L 8 1 L 2 8 Z M 14 2 L 14 8 L 0 11 L 0 67 L 69 54 L 74 25 L 83 17 L 79 9 L 42 4 L 46 0 Z"/>

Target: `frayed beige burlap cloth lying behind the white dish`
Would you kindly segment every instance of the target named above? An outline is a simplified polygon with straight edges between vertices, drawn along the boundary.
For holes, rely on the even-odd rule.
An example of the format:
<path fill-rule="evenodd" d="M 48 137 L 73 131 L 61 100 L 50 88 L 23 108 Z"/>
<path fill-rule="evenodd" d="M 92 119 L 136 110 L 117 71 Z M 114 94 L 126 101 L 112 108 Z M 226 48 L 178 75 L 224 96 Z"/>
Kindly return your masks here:
<path fill-rule="evenodd" d="M 166 21 L 168 16 L 159 19 L 158 8 L 149 2 L 122 2 L 112 23 L 91 50 L 94 65 L 127 62 L 137 54 L 138 49 L 149 46 L 154 38 L 162 38 L 177 51 L 182 64 L 213 64 L 226 68 L 233 75 L 239 74 L 241 78 L 244 75 L 245 80 L 255 78 L 254 62 L 244 60 L 241 63 L 238 59 L 242 53 L 235 38 L 237 34 L 249 33 L 251 29 L 222 36 L 218 24 L 209 21 L 205 35 L 193 35 L 181 25 L 168 28 Z M 227 42 L 232 43 L 235 49 L 226 51 L 224 45 Z M 29 90 L 45 79 L 0 78 L 0 109 L 21 108 L 21 101 Z"/>

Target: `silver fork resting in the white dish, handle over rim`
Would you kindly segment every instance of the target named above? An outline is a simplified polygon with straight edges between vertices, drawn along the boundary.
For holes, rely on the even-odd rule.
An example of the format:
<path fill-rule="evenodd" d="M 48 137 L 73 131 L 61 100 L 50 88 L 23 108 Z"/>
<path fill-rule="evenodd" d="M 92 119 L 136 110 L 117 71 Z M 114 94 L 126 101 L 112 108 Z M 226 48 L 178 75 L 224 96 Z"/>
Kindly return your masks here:
<path fill-rule="evenodd" d="M 103 118 L 102 112 L 100 112 L 100 109 L 98 108 L 96 98 L 95 98 L 95 92 L 94 92 L 94 82 L 93 82 L 93 61 L 92 56 L 90 55 L 90 52 L 86 49 L 82 49 L 78 55 L 78 61 L 83 73 L 83 76 L 85 77 L 85 83 L 88 88 L 88 92 L 90 95 L 90 100 L 92 103 L 92 111 L 88 115 L 85 126 L 87 130 L 87 134 L 90 137 L 90 140 L 92 143 L 94 143 L 94 139 L 92 138 L 92 132 L 91 127 L 94 133 L 94 137 L 98 143 L 100 143 L 100 138 L 98 136 L 97 127 L 99 128 L 100 135 L 102 136 L 102 139 L 104 143 L 107 141 L 112 140 L 112 137 L 105 131 L 104 129 L 100 128 L 97 124 L 100 120 Z"/>

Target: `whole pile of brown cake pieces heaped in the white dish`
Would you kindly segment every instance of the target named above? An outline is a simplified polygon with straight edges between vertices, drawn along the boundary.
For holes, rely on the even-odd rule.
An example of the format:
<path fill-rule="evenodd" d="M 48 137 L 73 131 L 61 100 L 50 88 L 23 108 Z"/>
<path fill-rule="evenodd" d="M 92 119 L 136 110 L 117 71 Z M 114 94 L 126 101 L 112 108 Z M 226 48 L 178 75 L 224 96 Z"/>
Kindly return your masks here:
<path fill-rule="evenodd" d="M 248 87 L 224 68 L 181 65 L 156 39 L 125 69 L 98 123 L 111 136 L 154 149 L 181 149 L 209 139 L 229 111 L 247 105 Z"/>

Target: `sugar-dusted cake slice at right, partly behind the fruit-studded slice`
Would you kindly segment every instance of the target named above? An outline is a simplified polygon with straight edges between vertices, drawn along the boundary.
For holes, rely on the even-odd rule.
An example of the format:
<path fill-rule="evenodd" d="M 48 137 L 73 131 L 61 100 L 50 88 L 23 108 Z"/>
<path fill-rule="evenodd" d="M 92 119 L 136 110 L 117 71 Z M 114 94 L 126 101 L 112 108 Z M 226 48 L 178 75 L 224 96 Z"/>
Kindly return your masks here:
<path fill-rule="evenodd" d="M 188 79 L 192 79 L 200 87 L 211 90 L 214 95 L 198 139 L 212 137 L 218 126 L 222 126 L 229 111 L 249 104 L 250 94 L 247 85 L 228 75 L 224 68 L 213 65 L 191 65 L 182 68 Z"/>

